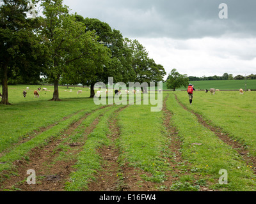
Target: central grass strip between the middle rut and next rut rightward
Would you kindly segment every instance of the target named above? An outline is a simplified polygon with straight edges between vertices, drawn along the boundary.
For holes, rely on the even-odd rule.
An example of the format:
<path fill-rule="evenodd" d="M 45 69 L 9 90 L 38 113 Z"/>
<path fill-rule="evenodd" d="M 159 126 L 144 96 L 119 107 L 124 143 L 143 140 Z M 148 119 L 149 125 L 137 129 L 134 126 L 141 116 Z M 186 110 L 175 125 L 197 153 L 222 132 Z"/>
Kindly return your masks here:
<path fill-rule="evenodd" d="M 145 180 L 163 182 L 169 166 L 163 158 L 166 145 L 163 112 L 150 112 L 149 105 L 129 106 L 118 116 L 121 129 L 120 161 L 148 172 Z"/>

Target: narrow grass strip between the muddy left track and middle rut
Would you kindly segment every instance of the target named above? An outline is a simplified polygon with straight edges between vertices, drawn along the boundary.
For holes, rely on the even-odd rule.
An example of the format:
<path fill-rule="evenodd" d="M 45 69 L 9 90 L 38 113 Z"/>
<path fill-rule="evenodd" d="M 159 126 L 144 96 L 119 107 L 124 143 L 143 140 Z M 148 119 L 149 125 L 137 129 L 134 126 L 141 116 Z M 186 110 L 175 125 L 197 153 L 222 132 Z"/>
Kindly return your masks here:
<path fill-rule="evenodd" d="M 84 191 L 88 189 L 88 184 L 91 179 L 95 179 L 95 174 L 101 169 L 102 158 L 97 154 L 97 150 L 102 145 L 108 145 L 110 140 L 108 138 L 109 127 L 108 120 L 113 112 L 120 108 L 120 106 L 111 106 L 107 110 L 102 110 L 104 116 L 100 117 L 99 124 L 95 127 L 92 133 L 87 136 L 86 143 L 83 146 L 83 151 L 77 157 L 77 163 L 74 166 L 76 171 L 71 173 L 70 180 L 65 184 L 66 191 Z M 93 115 L 90 119 L 93 119 Z M 85 120 L 83 124 L 88 126 L 92 120 Z"/>

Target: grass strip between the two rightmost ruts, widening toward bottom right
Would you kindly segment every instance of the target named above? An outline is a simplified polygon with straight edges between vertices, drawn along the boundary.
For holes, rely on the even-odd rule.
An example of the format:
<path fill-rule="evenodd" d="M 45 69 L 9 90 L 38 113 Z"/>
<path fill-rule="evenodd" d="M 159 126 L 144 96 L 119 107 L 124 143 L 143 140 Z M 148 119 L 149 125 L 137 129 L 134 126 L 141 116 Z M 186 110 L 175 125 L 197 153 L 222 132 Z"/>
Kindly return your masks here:
<path fill-rule="evenodd" d="M 186 100 L 184 98 L 186 96 L 184 92 L 177 92 L 176 94 L 183 102 L 188 101 L 188 98 Z M 211 96 L 208 95 L 208 97 Z M 211 105 L 211 103 L 204 103 L 202 98 L 198 98 L 197 102 L 198 108 Z M 179 136 L 183 142 L 182 155 L 193 166 L 193 172 L 201 175 L 203 179 L 207 178 L 208 182 L 213 183 L 211 187 L 214 189 L 255 191 L 255 175 L 236 150 L 222 142 L 212 131 L 199 124 L 195 115 L 184 110 L 177 103 L 173 93 L 170 94 L 166 105 L 173 112 L 172 122 L 179 130 Z M 207 108 L 209 110 L 209 107 Z M 214 112 L 214 110 L 211 111 Z M 218 118 L 220 118 L 220 112 L 216 114 L 219 114 Z M 192 143 L 202 143 L 202 145 L 191 145 Z M 222 169 L 228 171 L 228 185 L 224 186 L 218 184 L 220 178 L 218 173 Z"/>

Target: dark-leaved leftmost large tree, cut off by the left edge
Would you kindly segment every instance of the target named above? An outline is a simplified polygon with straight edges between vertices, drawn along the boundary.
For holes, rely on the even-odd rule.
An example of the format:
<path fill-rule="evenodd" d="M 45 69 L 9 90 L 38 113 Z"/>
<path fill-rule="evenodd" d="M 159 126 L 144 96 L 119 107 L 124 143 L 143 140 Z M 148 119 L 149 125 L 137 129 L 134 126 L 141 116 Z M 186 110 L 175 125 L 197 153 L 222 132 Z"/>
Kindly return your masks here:
<path fill-rule="evenodd" d="M 38 18 L 27 18 L 29 1 L 3 0 L 0 7 L 0 81 L 3 86 L 1 104 L 8 101 L 8 78 L 23 75 L 39 78 L 44 67 L 45 49 L 35 34 Z"/>

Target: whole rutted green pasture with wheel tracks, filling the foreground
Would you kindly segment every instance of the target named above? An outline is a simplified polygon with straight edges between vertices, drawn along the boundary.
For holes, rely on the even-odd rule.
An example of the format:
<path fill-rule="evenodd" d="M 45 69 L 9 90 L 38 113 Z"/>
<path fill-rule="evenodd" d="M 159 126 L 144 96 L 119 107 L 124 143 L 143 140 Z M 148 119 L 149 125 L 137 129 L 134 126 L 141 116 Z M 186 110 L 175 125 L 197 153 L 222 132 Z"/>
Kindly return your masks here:
<path fill-rule="evenodd" d="M 1 191 L 256 190 L 256 92 L 196 91 L 192 105 L 163 92 L 151 112 L 143 99 L 97 106 L 88 88 L 60 87 L 55 102 L 37 88 L 10 85 L 0 106 Z"/>

